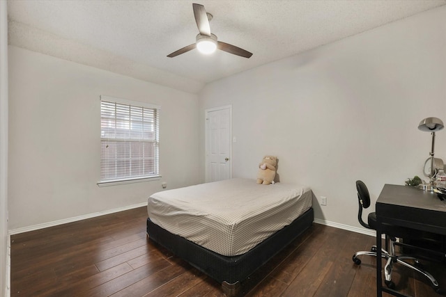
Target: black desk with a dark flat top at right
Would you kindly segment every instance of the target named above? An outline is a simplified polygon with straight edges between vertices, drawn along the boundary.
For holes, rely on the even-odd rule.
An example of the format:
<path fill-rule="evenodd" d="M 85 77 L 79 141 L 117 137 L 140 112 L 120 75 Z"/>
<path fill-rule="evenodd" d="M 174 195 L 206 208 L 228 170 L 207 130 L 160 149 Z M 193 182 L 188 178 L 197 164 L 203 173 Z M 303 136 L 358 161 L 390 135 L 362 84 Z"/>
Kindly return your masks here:
<path fill-rule="evenodd" d="M 380 224 L 390 223 L 411 229 L 446 235 L 446 201 L 438 198 L 436 193 L 422 191 L 413 186 L 385 184 L 376 200 L 376 247 L 381 259 Z M 382 292 L 395 296 L 404 296 L 397 291 L 383 287 L 381 270 L 382 261 L 376 261 L 376 296 Z"/>

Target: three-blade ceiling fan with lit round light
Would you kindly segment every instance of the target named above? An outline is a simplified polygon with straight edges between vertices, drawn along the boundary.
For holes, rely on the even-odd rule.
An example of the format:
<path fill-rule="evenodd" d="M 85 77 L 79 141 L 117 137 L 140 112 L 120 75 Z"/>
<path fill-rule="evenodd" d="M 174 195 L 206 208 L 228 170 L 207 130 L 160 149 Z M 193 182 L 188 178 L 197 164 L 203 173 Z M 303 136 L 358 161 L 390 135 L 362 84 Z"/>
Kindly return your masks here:
<path fill-rule="evenodd" d="M 197 41 L 192 43 L 192 45 L 187 45 L 178 51 L 167 55 L 169 58 L 174 58 L 180 54 L 184 54 L 187 51 L 197 48 L 203 54 L 211 54 L 215 49 L 221 49 L 229 54 L 234 54 L 244 58 L 249 58 L 252 53 L 245 51 L 245 49 L 240 49 L 235 45 L 229 45 L 229 43 L 217 41 L 217 36 L 210 33 L 209 21 L 212 19 L 213 15 L 206 13 L 204 6 L 201 4 L 193 3 L 195 22 L 197 22 L 199 34 L 197 35 Z"/>

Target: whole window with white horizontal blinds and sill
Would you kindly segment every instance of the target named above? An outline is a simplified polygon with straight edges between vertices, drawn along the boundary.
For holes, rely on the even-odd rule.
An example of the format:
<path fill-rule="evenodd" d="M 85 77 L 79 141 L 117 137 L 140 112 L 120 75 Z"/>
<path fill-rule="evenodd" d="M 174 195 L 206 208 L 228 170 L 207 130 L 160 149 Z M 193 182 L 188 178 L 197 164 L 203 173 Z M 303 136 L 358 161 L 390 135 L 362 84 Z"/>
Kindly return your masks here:
<path fill-rule="evenodd" d="M 101 96 L 100 182 L 160 177 L 159 106 Z"/>

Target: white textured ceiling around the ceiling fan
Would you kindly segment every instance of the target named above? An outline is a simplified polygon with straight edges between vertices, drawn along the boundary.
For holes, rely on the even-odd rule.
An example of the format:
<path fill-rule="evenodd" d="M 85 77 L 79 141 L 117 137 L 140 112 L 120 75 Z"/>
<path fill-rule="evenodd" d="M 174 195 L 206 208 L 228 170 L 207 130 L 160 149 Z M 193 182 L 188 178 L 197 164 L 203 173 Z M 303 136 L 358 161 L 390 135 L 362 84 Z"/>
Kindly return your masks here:
<path fill-rule="evenodd" d="M 192 3 L 213 14 L 210 31 L 249 59 L 194 49 Z M 210 81 L 299 54 L 446 0 L 387 1 L 8 1 L 9 44 L 197 93 Z"/>

